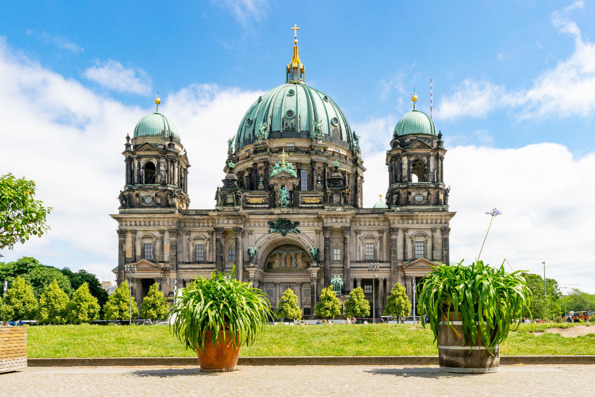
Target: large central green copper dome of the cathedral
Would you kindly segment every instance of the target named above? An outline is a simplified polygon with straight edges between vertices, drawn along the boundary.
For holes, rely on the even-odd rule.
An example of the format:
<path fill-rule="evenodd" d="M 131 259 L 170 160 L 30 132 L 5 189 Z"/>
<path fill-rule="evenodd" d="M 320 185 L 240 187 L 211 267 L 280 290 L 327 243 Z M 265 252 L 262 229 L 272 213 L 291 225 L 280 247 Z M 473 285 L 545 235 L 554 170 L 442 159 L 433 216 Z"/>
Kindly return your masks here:
<path fill-rule="evenodd" d="M 328 142 L 353 149 L 352 131 L 339 106 L 303 82 L 288 82 L 256 99 L 237 129 L 236 150 L 258 139 L 261 123 L 268 127 L 268 139 L 310 139 L 319 133 Z"/>

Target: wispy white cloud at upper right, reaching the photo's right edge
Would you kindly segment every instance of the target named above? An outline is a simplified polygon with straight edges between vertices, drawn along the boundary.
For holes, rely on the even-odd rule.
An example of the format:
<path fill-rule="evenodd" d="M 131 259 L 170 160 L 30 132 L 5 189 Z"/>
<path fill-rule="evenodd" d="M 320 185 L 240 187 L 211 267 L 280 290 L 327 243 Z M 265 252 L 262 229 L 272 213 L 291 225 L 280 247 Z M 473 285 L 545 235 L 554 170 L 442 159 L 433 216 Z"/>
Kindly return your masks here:
<path fill-rule="evenodd" d="M 552 24 L 558 32 L 575 39 L 574 53 L 568 59 L 543 71 L 527 89 L 465 79 L 455 93 L 441 99 L 437 116 L 450 120 L 484 117 L 497 109 L 522 107 L 523 118 L 591 117 L 595 111 L 595 44 L 583 40 L 577 24 L 563 15 L 581 7 L 582 2 L 576 2 L 552 15 Z M 515 117 L 518 117 L 516 112 Z"/>

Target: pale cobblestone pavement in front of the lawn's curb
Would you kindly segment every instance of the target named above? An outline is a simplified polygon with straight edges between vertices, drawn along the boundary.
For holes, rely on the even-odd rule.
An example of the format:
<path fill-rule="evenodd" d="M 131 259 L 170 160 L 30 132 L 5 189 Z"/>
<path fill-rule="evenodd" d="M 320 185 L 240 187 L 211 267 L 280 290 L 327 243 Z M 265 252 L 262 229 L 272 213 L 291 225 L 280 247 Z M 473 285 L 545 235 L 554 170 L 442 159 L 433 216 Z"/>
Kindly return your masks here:
<path fill-rule="evenodd" d="M 0 374 L 3 395 L 37 396 L 595 396 L 595 365 L 503 365 L 493 374 L 432 366 L 32 367 Z"/>

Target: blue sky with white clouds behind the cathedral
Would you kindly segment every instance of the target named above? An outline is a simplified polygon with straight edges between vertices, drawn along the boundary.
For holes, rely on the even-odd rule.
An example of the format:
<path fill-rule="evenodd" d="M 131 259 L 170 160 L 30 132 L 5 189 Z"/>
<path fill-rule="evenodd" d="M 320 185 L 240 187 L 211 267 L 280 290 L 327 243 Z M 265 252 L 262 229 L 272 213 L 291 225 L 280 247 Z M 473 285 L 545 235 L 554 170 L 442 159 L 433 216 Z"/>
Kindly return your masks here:
<path fill-rule="evenodd" d="M 33 156 L 9 154 L 0 173 L 41 180 L 39 198 L 56 210 L 45 242 L 2 254 L 108 273 L 117 253 L 106 214 L 123 183 L 122 137 L 151 111 L 157 90 L 194 165 L 192 207 L 211 208 L 225 141 L 258 95 L 284 83 L 297 24 L 306 82 L 362 135 L 365 205 L 386 191 L 383 151 L 414 87 L 418 109 L 429 111 L 432 78 L 434 121 L 452 149 L 453 256 L 469 260 L 481 243 L 486 219 L 474 214 L 505 205 L 493 262 L 508 255 L 503 249 L 513 267 L 539 271 L 550 260 L 562 284 L 590 277 L 580 287 L 595 292 L 585 226 L 593 215 L 581 210 L 595 204 L 593 20 L 593 1 L 5 5 L 0 90 L 12 117 L 1 134 L 27 139 Z M 93 161 L 102 161 L 94 177 L 78 169 Z M 64 185 L 50 170 L 81 174 Z M 106 182 L 89 183 L 100 176 Z M 73 241 L 74 227 L 91 236 Z"/>

